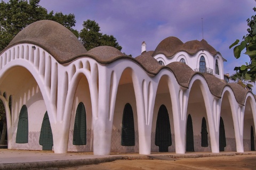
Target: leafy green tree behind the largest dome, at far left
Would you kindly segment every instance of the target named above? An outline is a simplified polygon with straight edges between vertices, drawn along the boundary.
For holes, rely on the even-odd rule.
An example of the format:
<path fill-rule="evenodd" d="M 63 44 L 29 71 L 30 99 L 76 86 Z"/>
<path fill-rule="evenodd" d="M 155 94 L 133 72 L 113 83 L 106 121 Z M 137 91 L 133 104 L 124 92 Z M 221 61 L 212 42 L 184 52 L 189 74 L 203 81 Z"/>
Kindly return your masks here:
<path fill-rule="evenodd" d="M 53 11 L 47 13 L 44 7 L 38 5 L 39 2 L 40 0 L 10 0 L 0 3 L 0 52 L 23 28 L 39 20 L 59 22 L 78 36 L 78 31 L 73 29 L 76 23 L 74 14 L 54 14 Z"/>

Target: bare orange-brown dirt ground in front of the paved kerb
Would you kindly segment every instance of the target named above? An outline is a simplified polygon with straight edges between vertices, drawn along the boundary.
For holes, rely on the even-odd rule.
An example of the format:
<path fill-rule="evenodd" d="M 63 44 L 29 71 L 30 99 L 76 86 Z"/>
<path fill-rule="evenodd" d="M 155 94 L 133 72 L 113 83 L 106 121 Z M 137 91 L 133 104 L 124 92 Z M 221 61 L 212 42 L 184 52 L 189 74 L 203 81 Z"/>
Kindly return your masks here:
<path fill-rule="evenodd" d="M 176 160 L 116 160 L 97 165 L 54 169 L 256 169 L 256 155 L 182 158 Z"/>

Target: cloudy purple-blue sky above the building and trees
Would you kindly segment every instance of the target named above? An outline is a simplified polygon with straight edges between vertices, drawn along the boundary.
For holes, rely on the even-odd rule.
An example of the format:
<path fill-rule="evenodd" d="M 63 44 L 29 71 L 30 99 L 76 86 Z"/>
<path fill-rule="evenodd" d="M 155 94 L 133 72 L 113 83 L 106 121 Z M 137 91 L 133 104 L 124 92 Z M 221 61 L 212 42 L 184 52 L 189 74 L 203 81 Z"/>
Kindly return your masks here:
<path fill-rule="evenodd" d="M 246 55 L 236 60 L 229 46 L 246 35 L 246 19 L 255 14 L 253 0 L 41 0 L 39 4 L 48 12 L 75 14 L 78 31 L 83 21 L 95 20 L 102 33 L 116 37 L 122 52 L 133 57 L 140 55 L 142 41 L 147 50 L 155 50 L 169 36 L 183 43 L 202 40 L 203 18 L 204 39 L 226 58 L 225 73 L 249 62 Z"/>

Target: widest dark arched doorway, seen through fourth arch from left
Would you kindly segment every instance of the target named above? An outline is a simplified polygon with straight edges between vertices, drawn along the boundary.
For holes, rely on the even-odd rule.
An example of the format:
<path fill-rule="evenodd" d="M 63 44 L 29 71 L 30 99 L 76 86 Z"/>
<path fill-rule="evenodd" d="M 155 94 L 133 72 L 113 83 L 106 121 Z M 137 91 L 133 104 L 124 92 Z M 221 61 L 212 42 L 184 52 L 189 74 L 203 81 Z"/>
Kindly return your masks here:
<path fill-rule="evenodd" d="M 159 152 L 167 152 L 172 145 L 171 126 L 167 108 L 161 105 L 157 114 L 155 145 Z"/>

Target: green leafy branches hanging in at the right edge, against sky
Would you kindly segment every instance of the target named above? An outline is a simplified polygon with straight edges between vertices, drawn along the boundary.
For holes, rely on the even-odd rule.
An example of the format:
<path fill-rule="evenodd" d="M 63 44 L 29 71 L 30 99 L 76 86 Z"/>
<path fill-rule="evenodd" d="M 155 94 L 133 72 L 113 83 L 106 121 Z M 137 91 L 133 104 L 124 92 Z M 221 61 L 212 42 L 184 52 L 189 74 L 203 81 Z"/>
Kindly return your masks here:
<path fill-rule="evenodd" d="M 256 1 L 255 1 L 256 2 Z M 256 12 L 256 7 L 253 8 L 254 12 Z M 251 19 L 247 19 L 247 25 L 249 28 L 247 29 L 246 36 L 243 36 L 243 40 L 240 44 L 237 39 L 233 44 L 229 46 L 229 48 L 234 47 L 234 56 L 239 58 L 241 56 L 242 51 L 245 49 L 246 55 L 250 57 L 250 62 L 245 63 L 246 65 L 236 66 L 235 71 L 243 74 L 246 80 L 255 81 L 256 79 L 256 15 L 251 16 Z"/>

